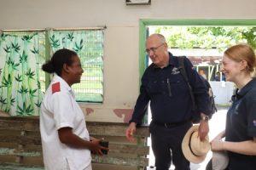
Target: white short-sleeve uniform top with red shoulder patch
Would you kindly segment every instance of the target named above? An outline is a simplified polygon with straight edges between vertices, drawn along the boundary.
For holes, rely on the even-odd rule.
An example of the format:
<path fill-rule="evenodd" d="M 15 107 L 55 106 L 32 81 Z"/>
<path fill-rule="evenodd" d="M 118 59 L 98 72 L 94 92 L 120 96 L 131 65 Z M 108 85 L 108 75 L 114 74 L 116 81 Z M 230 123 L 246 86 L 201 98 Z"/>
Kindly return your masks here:
<path fill-rule="evenodd" d="M 55 75 L 41 105 L 40 133 L 46 170 L 89 170 L 90 150 L 62 144 L 58 129 L 72 127 L 73 133 L 90 140 L 84 114 L 75 100 L 72 88 Z"/>

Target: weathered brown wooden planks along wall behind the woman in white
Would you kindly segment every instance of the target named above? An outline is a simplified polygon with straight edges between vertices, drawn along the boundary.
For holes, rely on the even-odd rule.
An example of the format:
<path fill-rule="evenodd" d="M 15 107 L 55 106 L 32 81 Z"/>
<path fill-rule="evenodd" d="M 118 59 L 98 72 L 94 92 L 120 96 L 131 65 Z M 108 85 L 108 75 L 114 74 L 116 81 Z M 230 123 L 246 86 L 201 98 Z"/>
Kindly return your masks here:
<path fill-rule="evenodd" d="M 117 139 L 125 139 L 125 129 L 128 127 L 127 123 L 119 122 L 86 122 L 86 125 L 90 135 Z M 145 139 L 149 137 L 148 126 L 137 127 L 135 136 L 143 142 L 136 144 L 109 140 L 108 155 L 92 155 L 92 162 L 147 167 L 148 158 L 145 156 L 149 154 L 149 147 L 145 145 Z M 0 117 L 0 141 L 0 157 L 11 156 L 15 160 L 9 162 L 19 165 L 26 163 L 26 160 L 35 165 L 42 165 L 43 154 L 38 117 Z M 39 160 L 39 163 L 32 160 Z"/>

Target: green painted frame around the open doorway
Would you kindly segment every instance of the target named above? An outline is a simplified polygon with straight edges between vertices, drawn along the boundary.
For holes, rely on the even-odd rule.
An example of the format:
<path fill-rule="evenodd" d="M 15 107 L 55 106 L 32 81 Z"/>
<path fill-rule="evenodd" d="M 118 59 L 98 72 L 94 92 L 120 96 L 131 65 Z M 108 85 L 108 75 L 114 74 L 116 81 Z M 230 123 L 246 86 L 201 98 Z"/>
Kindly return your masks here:
<path fill-rule="evenodd" d="M 256 19 L 139 20 L 139 82 L 146 69 L 146 54 L 144 51 L 147 26 L 256 26 Z"/>

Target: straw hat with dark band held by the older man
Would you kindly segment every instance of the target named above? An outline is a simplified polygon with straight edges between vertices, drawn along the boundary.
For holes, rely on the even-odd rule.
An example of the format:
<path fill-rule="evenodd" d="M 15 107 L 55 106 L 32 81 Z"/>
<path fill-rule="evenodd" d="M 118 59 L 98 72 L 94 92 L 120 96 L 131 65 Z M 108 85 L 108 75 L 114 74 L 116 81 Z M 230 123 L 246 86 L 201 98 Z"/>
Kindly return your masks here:
<path fill-rule="evenodd" d="M 207 152 L 210 150 L 209 137 L 203 141 L 198 135 L 198 125 L 190 127 L 185 134 L 182 143 L 183 155 L 187 160 L 193 163 L 201 163 L 207 157 Z"/>

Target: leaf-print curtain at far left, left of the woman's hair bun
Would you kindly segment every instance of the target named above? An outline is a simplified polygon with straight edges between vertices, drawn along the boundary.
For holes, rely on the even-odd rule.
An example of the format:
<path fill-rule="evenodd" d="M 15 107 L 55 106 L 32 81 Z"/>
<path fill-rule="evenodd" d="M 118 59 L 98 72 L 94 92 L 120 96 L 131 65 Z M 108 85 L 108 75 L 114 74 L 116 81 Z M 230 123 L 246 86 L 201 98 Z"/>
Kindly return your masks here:
<path fill-rule="evenodd" d="M 5 32 L 0 37 L 0 110 L 10 116 L 39 115 L 44 39 L 44 32 Z"/>

